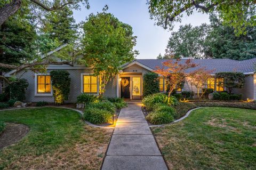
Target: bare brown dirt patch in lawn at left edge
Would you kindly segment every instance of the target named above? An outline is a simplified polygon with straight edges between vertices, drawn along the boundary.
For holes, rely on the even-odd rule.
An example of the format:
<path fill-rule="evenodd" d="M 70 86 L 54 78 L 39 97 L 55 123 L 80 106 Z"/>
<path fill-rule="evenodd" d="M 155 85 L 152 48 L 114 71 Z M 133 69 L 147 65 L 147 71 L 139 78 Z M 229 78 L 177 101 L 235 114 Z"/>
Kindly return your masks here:
<path fill-rule="evenodd" d="M 23 124 L 6 123 L 6 128 L 0 134 L 0 149 L 14 144 L 26 136 L 29 132 L 29 127 Z"/>

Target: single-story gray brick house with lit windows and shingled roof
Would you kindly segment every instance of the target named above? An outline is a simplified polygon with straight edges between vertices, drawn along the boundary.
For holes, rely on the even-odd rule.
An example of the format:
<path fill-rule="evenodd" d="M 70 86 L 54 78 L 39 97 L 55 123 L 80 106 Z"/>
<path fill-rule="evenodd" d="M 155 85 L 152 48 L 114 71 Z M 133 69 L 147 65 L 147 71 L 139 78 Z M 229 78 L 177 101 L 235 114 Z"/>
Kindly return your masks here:
<path fill-rule="evenodd" d="M 47 55 L 53 55 L 54 52 L 60 49 L 61 48 L 57 48 Z M 181 59 L 180 62 L 185 62 L 185 60 L 187 59 Z M 157 66 L 161 67 L 164 61 L 164 59 L 135 59 L 130 63 L 124 64 L 120 74 L 113 77 L 107 84 L 105 96 L 141 99 L 143 75 L 149 71 L 153 71 Z M 235 93 L 242 94 L 244 100 L 256 100 L 256 75 L 254 74 L 256 58 L 243 61 L 230 59 L 192 59 L 192 61 L 198 64 L 198 67 L 205 67 L 206 70 L 214 70 L 213 75 L 217 72 L 243 72 L 246 76 L 244 87 L 235 89 Z M 91 69 L 78 64 L 75 64 L 73 67 L 69 65 L 49 65 L 47 67 L 47 74 L 35 74 L 31 70 L 16 73 L 17 77 L 28 80 L 29 86 L 26 91 L 27 102 L 54 102 L 50 77 L 51 70 L 67 70 L 70 74 L 70 94 L 66 102 L 76 102 L 77 96 L 81 93 L 99 93 L 98 77 L 90 75 L 92 74 Z M 13 72 L 14 71 L 7 72 L 5 76 L 11 76 Z M 221 83 L 217 83 L 218 81 L 221 80 L 216 80 L 215 78 L 209 79 L 207 81 L 207 87 L 213 88 L 214 91 L 224 91 L 225 87 L 219 85 Z M 165 81 L 162 78 L 160 78 L 159 90 L 161 92 L 165 92 L 166 90 Z M 179 91 L 197 92 L 196 87 L 191 85 L 188 81 L 185 82 L 185 85 Z"/>

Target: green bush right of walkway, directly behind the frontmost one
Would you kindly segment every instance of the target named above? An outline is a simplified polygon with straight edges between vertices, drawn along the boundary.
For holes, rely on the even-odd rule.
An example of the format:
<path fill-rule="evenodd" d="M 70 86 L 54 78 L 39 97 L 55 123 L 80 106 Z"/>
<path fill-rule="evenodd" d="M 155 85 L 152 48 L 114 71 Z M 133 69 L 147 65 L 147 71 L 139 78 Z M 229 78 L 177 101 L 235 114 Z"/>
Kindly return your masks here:
<path fill-rule="evenodd" d="M 168 96 L 163 93 L 156 93 L 148 95 L 146 98 L 143 98 L 142 103 L 146 107 L 148 111 L 152 110 L 154 105 L 156 103 L 165 103 L 169 106 L 174 106 L 178 103 L 178 100 L 174 96 L 170 96 L 170 99 L 168 99 Z"/>

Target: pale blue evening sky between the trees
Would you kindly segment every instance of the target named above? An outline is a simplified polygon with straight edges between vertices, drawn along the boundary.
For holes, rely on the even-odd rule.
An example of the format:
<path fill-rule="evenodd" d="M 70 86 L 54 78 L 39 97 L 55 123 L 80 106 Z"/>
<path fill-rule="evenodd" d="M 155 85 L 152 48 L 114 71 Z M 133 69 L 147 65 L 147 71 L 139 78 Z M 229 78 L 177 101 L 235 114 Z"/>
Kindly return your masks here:
<path fill-rule="evenodd" d="M 80 11 L 74 11 L 74 19 L 77 23 L 85 21 L 90 13 L 102 12 L 103 7 L 108 5 L 109 13 L 114 14 L 119 21 L 132 26 L 133 33 L 137 36 L 137 45 L 134 49 L 140 53 L 137 59 L 156 59 L 159 53 L 165 53 L 171 31 L 154 25 L 155 21 L 149 18 L 146 0 L 89 0 L 89 4 L 89 10 L 81 5 Z M 188 17 L 184 13 L 182 22 L 175 23 L 173 31 L 177 31 L 180 25 L 188 23 L 199 26 L 202 23 L 209 23 L 209 17 L 198 12 Z"/>

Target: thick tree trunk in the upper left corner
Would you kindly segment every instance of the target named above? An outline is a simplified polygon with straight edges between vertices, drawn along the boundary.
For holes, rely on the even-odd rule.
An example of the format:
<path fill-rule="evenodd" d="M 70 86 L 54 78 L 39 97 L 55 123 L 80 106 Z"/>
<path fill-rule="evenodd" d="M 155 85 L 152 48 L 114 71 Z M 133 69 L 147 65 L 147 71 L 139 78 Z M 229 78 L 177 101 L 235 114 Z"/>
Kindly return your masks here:
<path fill-rule="evenodd" d="M 0 9 L 0 26 L 20 9 L 21 0 L 13 0 L 10 4 L 6 4 Z"/>

